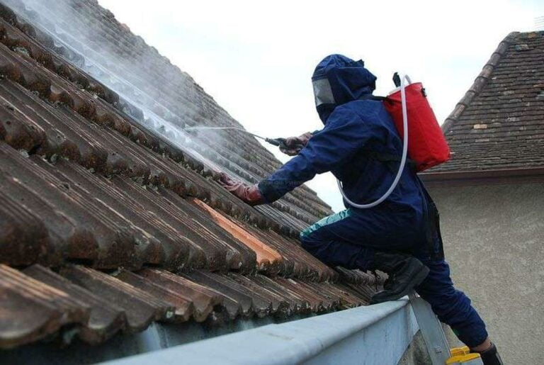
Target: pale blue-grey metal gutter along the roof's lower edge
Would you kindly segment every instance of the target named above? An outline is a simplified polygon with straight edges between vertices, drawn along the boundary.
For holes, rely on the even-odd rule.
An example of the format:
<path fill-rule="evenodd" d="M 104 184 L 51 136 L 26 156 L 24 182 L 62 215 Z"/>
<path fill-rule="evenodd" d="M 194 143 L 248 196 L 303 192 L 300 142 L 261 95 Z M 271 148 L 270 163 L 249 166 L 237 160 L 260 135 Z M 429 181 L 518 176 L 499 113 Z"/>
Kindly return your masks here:
<path fill-rule="evenodd" d="M 418 328 L 408 303 L 266 325 L 107 364 L 397 364 Z"/>

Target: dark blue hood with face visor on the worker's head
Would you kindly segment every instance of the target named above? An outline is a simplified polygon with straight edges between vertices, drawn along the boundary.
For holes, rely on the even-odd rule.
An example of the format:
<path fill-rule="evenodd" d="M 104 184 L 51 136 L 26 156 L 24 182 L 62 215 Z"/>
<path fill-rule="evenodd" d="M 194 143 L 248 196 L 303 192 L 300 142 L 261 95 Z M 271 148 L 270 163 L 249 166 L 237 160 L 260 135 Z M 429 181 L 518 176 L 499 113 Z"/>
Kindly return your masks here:
<path fill-rule="evenodd" d="M 376 77 L 365 69 L 363 61 L 353 61 L 343 55 L 325 57 L 312 75 L 319 118 L 324 124 L 327 123 L 336 106 L 372 94 L 375 82 Z"/>

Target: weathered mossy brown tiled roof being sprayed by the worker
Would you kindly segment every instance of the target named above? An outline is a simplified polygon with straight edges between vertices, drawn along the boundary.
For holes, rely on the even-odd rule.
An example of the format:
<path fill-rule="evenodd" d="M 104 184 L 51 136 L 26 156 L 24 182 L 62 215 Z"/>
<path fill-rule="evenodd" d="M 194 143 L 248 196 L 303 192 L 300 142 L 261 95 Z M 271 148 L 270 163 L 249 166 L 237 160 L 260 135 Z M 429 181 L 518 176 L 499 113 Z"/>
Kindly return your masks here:
<path fill-rule="evenodd" d="M 76 40 L 62 23 L 52 26 L 57 33 L 47 30 L 46 9 L 9 2 L 19 13 L 0 4 L 0 348 L 74 333 L 96 344 L 153 321 L 221 322 L 368 303 L 373 276 L 335 271 L 295 239 L 329 211 L 312 191 L 258 210 L 216 183 L 217 164 L 252 179 L 278 166 L 255 140 L 232 133 L 221 140 L 227 147 L 198 152 L 166 139 L 176 129 L 128 101 L 142 89 L 116 84 L 122 65 L 88 61 L 63 43 Z M 55 4 L 79 14 L 72 18 L 84 22 L 79 30 L 99 29 L 94 42 L 118 44 L 113 50 L 129 60 L 147 52 L 147 74 L 157 80 L 142 98 L 162 93 L 161 106 L 183 106 L 172 119 L 237 125 L 179 70 L 169 78 L 193 91 L 164 86 L 157 69 L 174 67 L 96 1 Z M 122 92 L 85 64 L 106 76 L 113 69 Z M 139 74 L 128 74 L 138 82 Z M 166 132 L 152 128 L 157 120 Z"/>

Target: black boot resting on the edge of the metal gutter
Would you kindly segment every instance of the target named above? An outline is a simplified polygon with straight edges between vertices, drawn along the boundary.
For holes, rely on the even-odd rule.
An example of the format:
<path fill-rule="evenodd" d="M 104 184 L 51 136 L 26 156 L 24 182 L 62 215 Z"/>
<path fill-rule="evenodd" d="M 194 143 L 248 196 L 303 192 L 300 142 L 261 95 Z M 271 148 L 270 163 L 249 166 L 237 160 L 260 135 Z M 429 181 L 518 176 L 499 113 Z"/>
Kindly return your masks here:
<path fill-rule="evenodd" d="M 418 286 L 429 274 L 429 268 L 408 254 L 376 252 L 375 269 L 389 276 L 384 289 L 370 298 L 370 304 L 396 301 L 406 296 L 414 286 Z"/>

